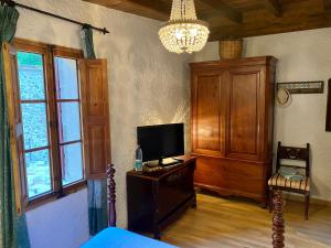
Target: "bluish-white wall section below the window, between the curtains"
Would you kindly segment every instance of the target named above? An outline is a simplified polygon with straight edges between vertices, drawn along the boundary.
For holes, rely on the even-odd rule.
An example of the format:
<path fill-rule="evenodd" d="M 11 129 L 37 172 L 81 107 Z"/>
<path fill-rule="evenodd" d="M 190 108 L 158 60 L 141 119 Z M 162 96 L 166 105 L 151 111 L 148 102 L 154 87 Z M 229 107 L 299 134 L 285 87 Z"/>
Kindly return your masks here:
<path fill-rule="evenodd" d="M 88 238 L 87 191 L 83 190 L 26 214 L 32 248 L 78 247 Z"/>

